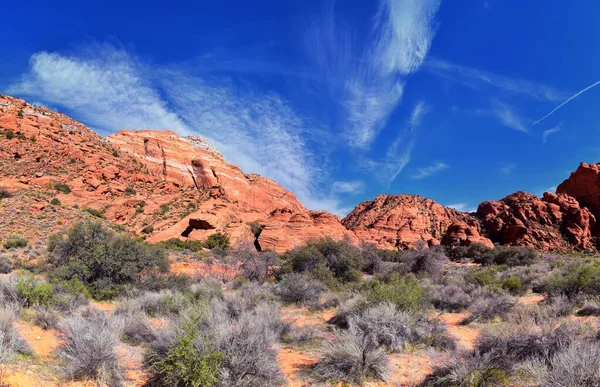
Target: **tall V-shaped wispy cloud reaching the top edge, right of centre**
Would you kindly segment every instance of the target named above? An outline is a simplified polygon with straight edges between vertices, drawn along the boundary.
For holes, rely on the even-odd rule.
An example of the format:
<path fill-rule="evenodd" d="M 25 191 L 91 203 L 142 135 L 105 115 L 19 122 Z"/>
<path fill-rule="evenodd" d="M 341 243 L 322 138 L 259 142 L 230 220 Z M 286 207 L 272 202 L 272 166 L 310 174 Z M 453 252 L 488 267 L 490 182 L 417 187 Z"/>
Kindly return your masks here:
<path fill-rule="evenodd" d="M 368 149 L 403 95 L 408 74 L 429 52 L 441 0 L 380 0 L 373 30 L 361 45 L 326 9 L 307 33 L 307 47 L 340 101 L 347 143 Z"/>

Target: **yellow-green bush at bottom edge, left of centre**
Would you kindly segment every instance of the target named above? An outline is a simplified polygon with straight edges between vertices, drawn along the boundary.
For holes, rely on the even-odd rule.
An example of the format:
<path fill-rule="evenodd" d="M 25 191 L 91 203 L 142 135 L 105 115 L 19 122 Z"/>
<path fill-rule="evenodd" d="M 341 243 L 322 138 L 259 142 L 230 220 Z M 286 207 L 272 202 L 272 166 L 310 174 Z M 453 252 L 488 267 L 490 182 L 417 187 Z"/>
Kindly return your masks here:
<path fill-rule="evenodd" d="M 199 353 L 195 342 L 199 332 L 187 324 L 175 338 L 175 343 L 160 358 L 150 357 L 150 385 L 156 386 L 216 386 L 224 355 L 215 350 Z"/>

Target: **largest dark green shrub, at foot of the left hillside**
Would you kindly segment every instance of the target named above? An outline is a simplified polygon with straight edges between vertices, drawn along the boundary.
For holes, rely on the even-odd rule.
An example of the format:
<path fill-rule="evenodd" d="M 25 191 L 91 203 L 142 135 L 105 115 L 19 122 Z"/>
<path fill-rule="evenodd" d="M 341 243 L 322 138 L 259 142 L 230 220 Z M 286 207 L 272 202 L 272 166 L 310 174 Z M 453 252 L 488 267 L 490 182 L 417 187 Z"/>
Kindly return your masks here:
<path fill-rule="evenodd" d="M 82 222 L 48 242 L 50 276 L 78 279 L 93 296 L 106 298 L 139 281 L 143 273 L 167 272 L 164 250 L 129 239 L 99 223 Z"/>

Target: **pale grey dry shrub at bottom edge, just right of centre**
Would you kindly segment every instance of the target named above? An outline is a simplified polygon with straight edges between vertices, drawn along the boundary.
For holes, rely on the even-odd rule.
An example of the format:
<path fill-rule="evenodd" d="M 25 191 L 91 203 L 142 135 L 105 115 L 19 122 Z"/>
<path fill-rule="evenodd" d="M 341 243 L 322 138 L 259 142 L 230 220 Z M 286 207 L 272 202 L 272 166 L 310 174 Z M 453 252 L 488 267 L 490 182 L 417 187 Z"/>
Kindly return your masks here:
<path fill-rule="evenodd" d="M 347 330 L 336 332 L 333 342 L 325 343 L 323 355 L 313 368 L 318 380 L 362 384 L 365 380 L 386 380 L 389 359 L 385 350 L 368 333 L 350 322 Z"/>

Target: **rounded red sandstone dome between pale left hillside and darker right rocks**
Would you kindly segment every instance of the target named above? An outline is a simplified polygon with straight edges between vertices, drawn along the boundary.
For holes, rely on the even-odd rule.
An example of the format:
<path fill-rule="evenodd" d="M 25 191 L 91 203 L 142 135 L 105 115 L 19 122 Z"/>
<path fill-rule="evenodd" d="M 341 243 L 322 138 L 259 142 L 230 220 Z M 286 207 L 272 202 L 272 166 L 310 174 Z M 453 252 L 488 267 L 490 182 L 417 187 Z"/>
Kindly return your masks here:
<path fill-rule="evenodd" d="M 406 249 L 417 243 L 439 244 L 448 227 L 464 222 L 475 230 L 476 217 L 413 195 L 379 195 L 360 203 L 342 224 L 361 241 L 384 249 Z"/>

